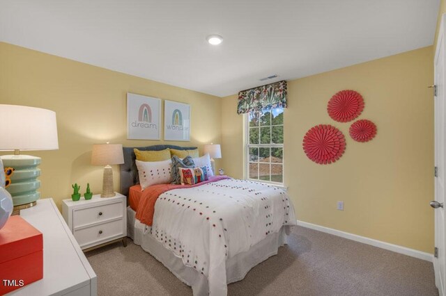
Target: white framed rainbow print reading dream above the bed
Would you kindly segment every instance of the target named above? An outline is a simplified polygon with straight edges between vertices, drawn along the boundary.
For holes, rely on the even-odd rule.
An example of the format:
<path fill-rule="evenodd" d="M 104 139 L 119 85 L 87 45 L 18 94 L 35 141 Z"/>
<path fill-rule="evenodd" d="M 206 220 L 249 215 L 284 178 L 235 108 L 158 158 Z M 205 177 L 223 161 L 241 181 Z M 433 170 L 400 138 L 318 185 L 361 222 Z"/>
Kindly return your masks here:
<path fill-rule="evenodd" d="M 161 100 L 127 93 L 127 138 L 160 140 Z"/>

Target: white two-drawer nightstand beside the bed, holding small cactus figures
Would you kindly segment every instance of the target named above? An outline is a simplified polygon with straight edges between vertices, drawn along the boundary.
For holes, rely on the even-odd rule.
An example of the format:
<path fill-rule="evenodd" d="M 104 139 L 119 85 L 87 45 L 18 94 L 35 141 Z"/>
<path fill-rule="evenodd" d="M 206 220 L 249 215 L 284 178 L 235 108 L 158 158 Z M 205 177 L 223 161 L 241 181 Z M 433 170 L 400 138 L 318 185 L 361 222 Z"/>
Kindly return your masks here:
<path fill-rule="evenodd" d="M 118 240 L 127 246 L 127 198 L 93 195 L 78 202 L 63 199 L 62 215 L 84 252 Z"/>

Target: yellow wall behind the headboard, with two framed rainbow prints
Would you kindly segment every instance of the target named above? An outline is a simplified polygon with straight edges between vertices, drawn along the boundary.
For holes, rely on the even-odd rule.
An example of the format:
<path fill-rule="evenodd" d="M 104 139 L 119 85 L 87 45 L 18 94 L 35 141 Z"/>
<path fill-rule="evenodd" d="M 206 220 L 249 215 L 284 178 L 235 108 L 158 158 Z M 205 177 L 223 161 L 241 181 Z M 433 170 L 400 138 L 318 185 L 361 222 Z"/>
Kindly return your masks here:
<path fill-rule="evenodd" d="M 70 198 L 72 183 L 79 183 L 80 191 L 85 192 L 89 182 L 93 193 L 101 192 L 102 167 L 90 164 L 94 143 L 110 141 L 127 147 L 166 143 L 198 146 L 201 151 L 203 144 L 221 141 L 219 97 L 4 42 L 0 42 L 0 65 L 0 104 L 34 106 L 56 112 L 59 150 L 29 151 L 27 154 L 42 158 L 41 195 L 53 197 L 59 208 L 62 199 Z M 127 140 L 127 92 L 190 104 L 191 141 Z M 216 165 L 219 166 L 218 160 Z M 118 165 L 114 165 L 114 188 L 119 190 Z"/>

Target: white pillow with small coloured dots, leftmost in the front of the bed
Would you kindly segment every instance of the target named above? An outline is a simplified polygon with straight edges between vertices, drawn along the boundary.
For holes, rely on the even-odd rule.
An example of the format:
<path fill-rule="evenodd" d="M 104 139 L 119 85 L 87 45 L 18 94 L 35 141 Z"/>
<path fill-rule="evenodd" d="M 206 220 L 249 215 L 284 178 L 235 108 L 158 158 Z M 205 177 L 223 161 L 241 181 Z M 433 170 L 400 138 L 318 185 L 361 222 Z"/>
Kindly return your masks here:
<path fill-rule="evenodd" d="M 136 161 L 141 190 L 155 184 L 171 183 L 172 161 Z"/>

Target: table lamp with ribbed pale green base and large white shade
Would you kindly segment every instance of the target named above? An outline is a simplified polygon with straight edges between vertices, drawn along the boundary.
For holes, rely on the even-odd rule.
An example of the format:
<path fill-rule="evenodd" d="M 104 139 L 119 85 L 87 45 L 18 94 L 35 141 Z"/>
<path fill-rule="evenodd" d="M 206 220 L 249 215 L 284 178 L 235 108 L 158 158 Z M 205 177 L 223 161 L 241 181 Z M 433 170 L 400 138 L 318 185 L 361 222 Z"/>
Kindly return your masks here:
<path fill-rule="evenodd" d="M 29 106 L 0 104 L 0 151 L 14 155 L 0 156 L 5 167 L 12 167 L 6 190 L 13 197 L 14 211 L 36 205 L 40 198 L 40 157 L 20 154 L 24 150 L 59 149 L 56 113 Z"/>

